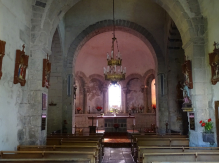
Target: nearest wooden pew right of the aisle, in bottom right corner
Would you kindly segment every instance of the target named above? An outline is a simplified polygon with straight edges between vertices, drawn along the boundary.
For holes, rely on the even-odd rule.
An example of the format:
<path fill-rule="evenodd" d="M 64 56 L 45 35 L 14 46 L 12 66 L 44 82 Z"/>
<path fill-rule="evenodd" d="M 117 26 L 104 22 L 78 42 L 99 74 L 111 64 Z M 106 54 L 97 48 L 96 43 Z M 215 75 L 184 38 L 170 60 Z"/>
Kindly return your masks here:
<path fill-rule="evenodd" d="M 218 162 L 219 152 L 144 153 L 143 163 L 151 162 Z"/>

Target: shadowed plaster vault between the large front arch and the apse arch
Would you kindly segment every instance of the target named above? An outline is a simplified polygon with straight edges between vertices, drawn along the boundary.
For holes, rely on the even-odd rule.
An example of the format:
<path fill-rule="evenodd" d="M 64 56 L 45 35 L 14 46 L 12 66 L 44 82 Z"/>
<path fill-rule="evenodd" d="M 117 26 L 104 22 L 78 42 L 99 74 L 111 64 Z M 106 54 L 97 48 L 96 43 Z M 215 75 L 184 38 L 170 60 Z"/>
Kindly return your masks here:
<path fill-rule="evenodd" d="M 88 26 L 102 20 L 112 20 L 112 0 L 82 0 L 65 14 L 65 48 Z M 152 34 L 161 49 L 164 48 L 166 12 L 151 0 L 115 1 L 115 19 L 134 22 Z"/>

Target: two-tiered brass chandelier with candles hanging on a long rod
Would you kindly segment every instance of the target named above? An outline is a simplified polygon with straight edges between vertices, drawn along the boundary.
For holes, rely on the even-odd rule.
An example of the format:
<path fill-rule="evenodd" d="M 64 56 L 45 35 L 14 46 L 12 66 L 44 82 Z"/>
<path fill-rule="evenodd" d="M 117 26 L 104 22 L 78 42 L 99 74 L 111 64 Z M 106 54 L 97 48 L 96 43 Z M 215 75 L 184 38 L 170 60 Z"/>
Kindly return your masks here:
<path fill-rule="evenodd" d="M 115 54 L 114 44 L 116 41 L 118 54 Z M 122 68 L 122 57 L 119 52 L 118 41 L 115 37 L 115 19 L 114 19 L 114 0 L 113 0 L 113 38 L 111 55 L 107 53 L 107 67 L 103 68 L 105 80 L 116 84 L 118 81 L 125 80 L 126 67 Z"/>

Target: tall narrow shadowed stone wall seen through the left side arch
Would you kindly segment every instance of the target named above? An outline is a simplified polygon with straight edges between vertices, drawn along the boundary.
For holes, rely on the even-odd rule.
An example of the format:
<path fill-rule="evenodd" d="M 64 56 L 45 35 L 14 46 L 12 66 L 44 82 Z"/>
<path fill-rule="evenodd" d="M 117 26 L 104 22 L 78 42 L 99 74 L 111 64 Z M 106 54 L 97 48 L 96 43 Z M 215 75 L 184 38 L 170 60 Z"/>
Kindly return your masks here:
<path fill-rule="evenodd" d="M 60 43 L 58 30 L 56 30 L 52 42 L 52 55 L 50 55 L 51 74 L 50 87 L 48 92 L 48 102 L 55 103 L 56 106 L 48 108 L 48 128 L 50 134 L 56 130 L 62 130 L 62 72 L 63 72 L 63 53 Z"/>

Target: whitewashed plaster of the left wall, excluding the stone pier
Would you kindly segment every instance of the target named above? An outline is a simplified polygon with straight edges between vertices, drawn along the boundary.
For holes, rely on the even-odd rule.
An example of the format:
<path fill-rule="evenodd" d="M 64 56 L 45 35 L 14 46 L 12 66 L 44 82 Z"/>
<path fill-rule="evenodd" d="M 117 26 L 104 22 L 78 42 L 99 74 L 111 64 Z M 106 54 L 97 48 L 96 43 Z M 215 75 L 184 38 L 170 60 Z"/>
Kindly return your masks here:
<path fill-rule="evenodd" d="M 14 150 L 19 142 L 35 137 L 29 124 L 38 121 L 38 117 L 30 117 L 30 110 L 25 106 L 29 99 L 26 92 L 29 83 L 24 87 L 13 84 L 16 49 L 30 54 L 30 0 L 0 0 L 0 40 L 6 41 L 5 56 L 0 80 L 0 150 Z M 27 73 L 28 78 L 28 73 Z M 34 108 L 33 108 L 34 109 Z M 34 110 L 37 114 L 39 110 Z M 25 117 L 26 116 L 26 117 Z"/>

